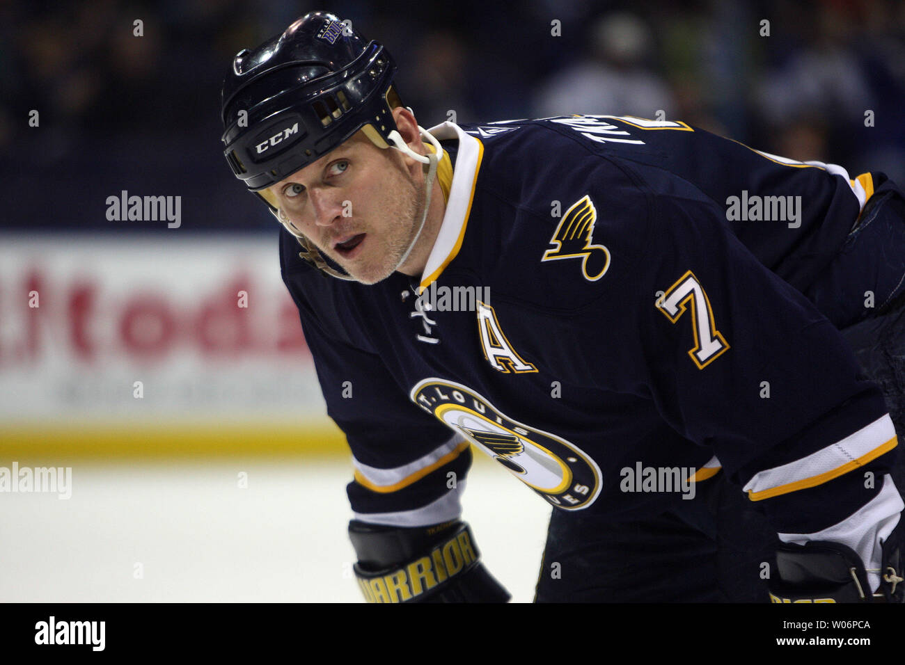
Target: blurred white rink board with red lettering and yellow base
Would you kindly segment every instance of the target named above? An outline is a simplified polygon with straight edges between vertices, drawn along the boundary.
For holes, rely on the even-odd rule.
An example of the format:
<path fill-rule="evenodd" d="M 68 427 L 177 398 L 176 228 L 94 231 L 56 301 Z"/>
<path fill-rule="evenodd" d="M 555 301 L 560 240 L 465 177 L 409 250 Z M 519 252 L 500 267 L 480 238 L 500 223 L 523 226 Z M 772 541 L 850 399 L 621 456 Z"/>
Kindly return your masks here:
<path fill-rule="evenodd" d="M 342 450 L 275 234 L 0 237 L 4 449 Z"/>

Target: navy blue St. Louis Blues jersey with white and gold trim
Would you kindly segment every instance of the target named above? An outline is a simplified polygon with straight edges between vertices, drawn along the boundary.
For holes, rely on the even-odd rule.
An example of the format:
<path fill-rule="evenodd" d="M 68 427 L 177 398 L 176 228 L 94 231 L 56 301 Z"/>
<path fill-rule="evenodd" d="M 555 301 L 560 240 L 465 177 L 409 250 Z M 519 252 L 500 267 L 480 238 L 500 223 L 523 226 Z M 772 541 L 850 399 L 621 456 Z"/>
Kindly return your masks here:
<path fill-rule="evenodd" d="M 281 233 L 356 518 L 460 517 L 472 445 L 567 511 L 655 509 L 624 482 L 647 468 L 721 467 L 789 534 L 878 500 L 893 424 L 803 295 L 871 175 L 672 121 L 431 132 L 455 166 L 420 280 L 329 278 Z"/>

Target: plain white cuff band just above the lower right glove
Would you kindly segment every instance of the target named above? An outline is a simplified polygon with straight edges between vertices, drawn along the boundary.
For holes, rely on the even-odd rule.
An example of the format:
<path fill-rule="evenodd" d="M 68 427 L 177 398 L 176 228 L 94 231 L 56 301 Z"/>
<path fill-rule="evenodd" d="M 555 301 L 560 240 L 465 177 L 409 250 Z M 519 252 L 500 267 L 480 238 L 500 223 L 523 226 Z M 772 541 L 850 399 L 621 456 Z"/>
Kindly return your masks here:
<path fill-rule="evenodd" d="M 813 534 L 779 534 L 778 536 L 784 543 L 795 543 L 796 545 L 804 545 L 809 540 L 829 540 L 851 547 L 861 557 L 864 566 L 869 571 L 867 576 L 873 591 L 880 586 L 880 575 L 870 572 L 879 570 L 881 565 L 880 541 L 889 537 L 892 529 L 899 524 L 899 513 L 902 508 L 905 508 L 905 503 L 902 502 L 899 490 L 892 481 L 892 476 L 887 474 L 883 476 L 883 487 L 877 496 L 864 504 L 851 517 Z"/>

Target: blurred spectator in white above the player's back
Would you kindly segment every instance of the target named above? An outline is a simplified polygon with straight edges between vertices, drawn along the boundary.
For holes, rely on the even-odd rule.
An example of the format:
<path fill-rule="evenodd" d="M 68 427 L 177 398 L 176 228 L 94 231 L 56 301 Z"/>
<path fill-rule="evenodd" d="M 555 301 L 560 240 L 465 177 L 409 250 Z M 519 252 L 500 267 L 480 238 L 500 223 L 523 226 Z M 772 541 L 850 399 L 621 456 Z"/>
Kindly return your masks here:
<path fill-rule="evenodd" d="M 534 104 L 538 118 L 569 113 L 670 117 L 672 95 L 651 71 L 651 29 L 630 13 L 605 14 L 590 33 L 589 57 L 554 74 Z"/>

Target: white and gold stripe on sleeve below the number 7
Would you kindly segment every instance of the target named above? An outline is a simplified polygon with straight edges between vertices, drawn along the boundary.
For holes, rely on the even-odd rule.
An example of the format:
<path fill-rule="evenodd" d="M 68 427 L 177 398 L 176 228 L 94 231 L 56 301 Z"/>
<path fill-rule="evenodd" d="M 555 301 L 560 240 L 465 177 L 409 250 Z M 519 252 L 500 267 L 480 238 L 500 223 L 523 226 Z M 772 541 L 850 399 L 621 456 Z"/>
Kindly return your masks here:
<path fill-rule="evenodd" d="M 895 426 L 892 424 L 890 414 L 886 413 L 857 432 L 822 450 L 812 452 L 800 460 L 790 461 L 773 469 L 758 471 L 751 480 L 748 480 L 743 489 L 750 495 L 758 495 L 771 490 L 777 490 L 776 493 L 782 494 L 786 491 L 812 487 L 820 482 L 832 480 L 832 478 L 820 480 L 817 477 L 832 474 L 834 470 L 840 470 L 839 475 L 841 475 L 844 472 L 842 467 L 852 465 L 853 462 L 859 461 L 859 458 L 877 450 L 891 440 L 894 444 L 895 436 Z M 805 481 L 808 480 L 814 480 L 814 482 L 807 484 Z M 796 487 L 795 483 L 802 483 L 802 486 Z M 784 487 L 789 485 L 792 487 Z M 759 498 L 767 499 L 763 495 Z M 755 499 L 755 497 L 751 496 L 751 499 Z"/>

